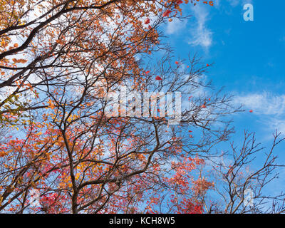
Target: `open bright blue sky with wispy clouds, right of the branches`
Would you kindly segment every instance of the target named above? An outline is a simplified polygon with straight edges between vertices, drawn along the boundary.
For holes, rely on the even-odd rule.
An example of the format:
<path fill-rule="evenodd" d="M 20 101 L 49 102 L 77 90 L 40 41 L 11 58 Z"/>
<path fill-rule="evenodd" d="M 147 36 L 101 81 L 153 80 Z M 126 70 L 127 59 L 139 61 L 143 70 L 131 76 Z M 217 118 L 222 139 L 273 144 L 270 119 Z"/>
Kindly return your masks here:
<path fill-rule="evenodd" d="M 247 3 L 254 6 L 254 21 L 244 21 Z M 214 86 L 225 86 L 235 103 L 244 104 L 245 112 L 234 115 L 236 142 L 242 142 L 245 129 L 255 132 L 264 146 L 271 145 L 276 129 L 285 133 L 284 9 L 283 0 L 219 0 L 214 7 L 187 4 L 184 11 L 192 18 L 165 26 L 175 56 L 187 59 L 189 52 L 197 51 L 205 63 L 214 63 L 207 72 Z M 284 149 L 285 142 L 276 153 L 285 164 Z M 280 190 L 284 175 L 281 170 Z"/>

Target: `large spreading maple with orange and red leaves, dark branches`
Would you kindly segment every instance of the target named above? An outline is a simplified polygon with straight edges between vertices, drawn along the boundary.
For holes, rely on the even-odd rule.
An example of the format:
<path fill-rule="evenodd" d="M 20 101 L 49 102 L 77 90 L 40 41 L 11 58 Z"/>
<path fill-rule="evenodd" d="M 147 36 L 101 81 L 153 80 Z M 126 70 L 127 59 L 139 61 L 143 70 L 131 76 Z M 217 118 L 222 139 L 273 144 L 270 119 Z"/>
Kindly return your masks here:
<path fill-rule="evenodd" d="M 210 87 L 210 65 L 173 61 L 159 30 L 182 17 L 181 4 L 197 3 L 213 5 L 0 0 L 0 212 L 204 212 L 214 188 L 205 157 L 233 132 L 224 115 L 239 109 L 219 92 L 189 97 Z M 181 92 L 190 105 L 179 125 L 106 115 L 105 95 L 122 86 Z"/>

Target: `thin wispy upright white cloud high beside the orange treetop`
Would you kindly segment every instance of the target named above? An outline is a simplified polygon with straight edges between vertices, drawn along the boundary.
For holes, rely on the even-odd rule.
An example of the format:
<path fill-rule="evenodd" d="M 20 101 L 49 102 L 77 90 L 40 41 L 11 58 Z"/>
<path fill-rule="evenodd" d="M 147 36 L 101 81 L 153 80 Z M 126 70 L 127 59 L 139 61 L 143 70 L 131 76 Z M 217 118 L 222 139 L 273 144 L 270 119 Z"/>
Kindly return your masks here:
<path fill-rule="evenodd" d="M 209 12 L 204 6 L 192 6 L 192 11 L 197 20 L 195 29 L 191 31 L 192 39 L 188 42 L 193 46 L 202 46 L 202 48 L 209 48 L 212 45 L 212 31 L 206 26 L 209 20 Z"/>

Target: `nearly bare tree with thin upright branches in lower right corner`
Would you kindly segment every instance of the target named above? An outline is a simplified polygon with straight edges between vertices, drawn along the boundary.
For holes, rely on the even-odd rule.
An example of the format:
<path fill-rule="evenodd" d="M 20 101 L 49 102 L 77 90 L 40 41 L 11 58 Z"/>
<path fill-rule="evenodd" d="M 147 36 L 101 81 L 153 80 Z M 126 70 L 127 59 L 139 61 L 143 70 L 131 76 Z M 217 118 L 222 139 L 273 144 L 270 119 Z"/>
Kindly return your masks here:
<path fill-rule="evenodd" d="M 207 213 L 285 212 L 284 192 L 266 193 L 266 187 L 279 178 L 279 167 L 284 167 L 274 155 L 274 148 L 285 140 L 280 135 L 276 131 L 271 147 L 263 152 L 266 148 L 257 143 L 254 133 L 245 131 L 240 149 L 232 142 L 232 152 L 223 152 L 222 160 L 213 161 L 214 190 L 221 197 L 211 201 L 204 198 Z M 257 157 L 263 157 L 262 162 L 254 162 Z"/>

